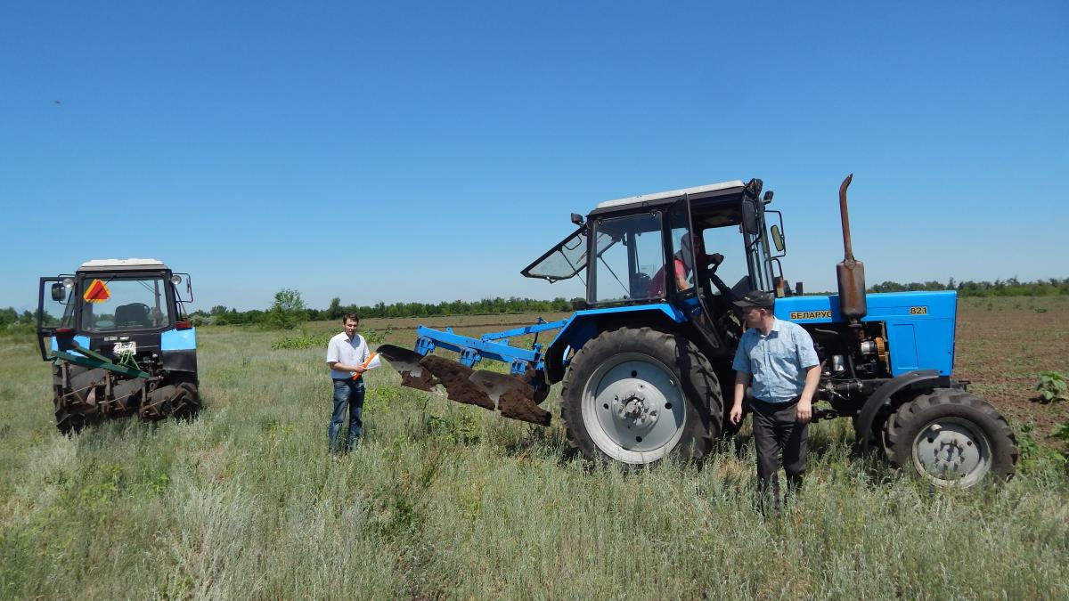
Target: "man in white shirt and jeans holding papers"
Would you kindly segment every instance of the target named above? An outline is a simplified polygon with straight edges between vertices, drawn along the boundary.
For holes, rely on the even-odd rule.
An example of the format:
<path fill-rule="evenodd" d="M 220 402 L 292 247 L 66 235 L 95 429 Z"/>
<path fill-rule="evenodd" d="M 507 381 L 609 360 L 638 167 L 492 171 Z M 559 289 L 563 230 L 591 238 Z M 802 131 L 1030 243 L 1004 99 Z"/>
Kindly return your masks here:
<path fill-rule="evenodd" d="M 356 333 L 356 328 L 360 326 L 360 318 L 356 313 L 345 313 L 342 323 L 345 332 L 327 343 L 327 365 L 330 366 L 330 379 L 335 387 L 335 409 L 327 427 L 327 444 L 331 452 L 338 450 L 338 432 L 345 421 L 346 405 L 348 436 L 345 438 L 345 451 L 353 450 L 360 440 L 363 428 L 363 364 L 371 355 L 367 341 Z"/>

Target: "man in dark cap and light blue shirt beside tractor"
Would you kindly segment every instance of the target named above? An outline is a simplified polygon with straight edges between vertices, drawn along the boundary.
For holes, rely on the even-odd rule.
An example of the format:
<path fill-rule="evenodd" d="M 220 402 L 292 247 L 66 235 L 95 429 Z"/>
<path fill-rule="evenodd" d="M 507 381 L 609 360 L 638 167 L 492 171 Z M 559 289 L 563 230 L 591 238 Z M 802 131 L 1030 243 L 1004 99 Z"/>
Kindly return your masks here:
<path fill-rule="evenodd" d="M 788 487 L 796 489 L 805 474 L 806 426 L 812 418 L 820 360 L 808 332 L 773 315 L 772 294 L 750 292 L 734 304 L 749 329 L 735 351 L 734 403 L 728 417 L 735 425 L 742 421 L 742 401 L 749 385 L 757 479 L 778 507 L 780 453 Z"/>

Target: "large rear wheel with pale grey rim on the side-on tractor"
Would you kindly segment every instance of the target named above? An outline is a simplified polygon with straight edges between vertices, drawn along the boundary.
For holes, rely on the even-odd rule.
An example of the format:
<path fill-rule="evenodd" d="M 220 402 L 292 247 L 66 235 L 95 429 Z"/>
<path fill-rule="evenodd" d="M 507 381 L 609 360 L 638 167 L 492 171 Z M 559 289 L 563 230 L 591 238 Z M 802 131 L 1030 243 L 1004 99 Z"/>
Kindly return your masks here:
<path fill-rule="evenodd" d="M 698 459 L 719 434 L 724 402 L 709 359 L 686 338 L 649 327 L 605 332 L 575 354 L 561 386 L 571 445 L 590 460 Z"/>

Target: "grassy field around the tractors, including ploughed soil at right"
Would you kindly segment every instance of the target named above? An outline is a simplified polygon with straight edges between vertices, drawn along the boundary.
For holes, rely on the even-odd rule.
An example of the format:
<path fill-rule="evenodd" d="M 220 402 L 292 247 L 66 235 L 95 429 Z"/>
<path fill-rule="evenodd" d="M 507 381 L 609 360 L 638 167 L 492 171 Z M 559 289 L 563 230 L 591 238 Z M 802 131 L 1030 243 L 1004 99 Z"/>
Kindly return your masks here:
<path fill-rule="evenodd" d="M 198 420 L 68 440 L 34 342 L 0 338 L 0 596 L 1069 598 L 1069 479 L 1043 430 L 1069 417 L 1029 400 L 1036 372 L 1067 369 L 1064 300 L 962 303 L 959 371 L 1040 443 L 1017 478 L 930 490 L 822 422 L 806 487 L 771 519 L 745 431 L 700 467 L 587 469 L 556 420 L 399 388 L 389 369 L 368 375 L 363 445 L 332 459 L 324 351 L 251 329 L 199 330 Z M 402 344 L 413 325 L 363 324 Z"/>

